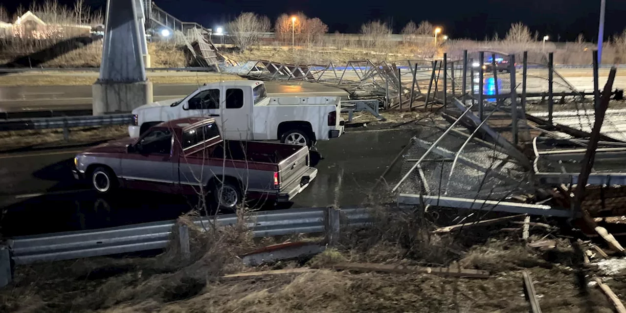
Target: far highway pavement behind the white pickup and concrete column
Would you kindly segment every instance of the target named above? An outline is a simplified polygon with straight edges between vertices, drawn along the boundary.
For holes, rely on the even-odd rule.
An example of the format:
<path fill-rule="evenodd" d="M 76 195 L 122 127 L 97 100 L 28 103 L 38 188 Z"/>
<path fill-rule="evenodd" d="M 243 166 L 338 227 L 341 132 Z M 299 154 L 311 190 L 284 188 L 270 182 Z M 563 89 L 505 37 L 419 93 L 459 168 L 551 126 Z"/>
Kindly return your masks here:
<path fill-rule="evenodd" d="M 265 83 L 270 96 L 347 96 L 339 88 L 308 82 Z M 182 98 L 198 85 L 155 84 L 154 100 Z M 24 111 L 91 110 L 91 86 L 0 87 L 0 113 Z"/>

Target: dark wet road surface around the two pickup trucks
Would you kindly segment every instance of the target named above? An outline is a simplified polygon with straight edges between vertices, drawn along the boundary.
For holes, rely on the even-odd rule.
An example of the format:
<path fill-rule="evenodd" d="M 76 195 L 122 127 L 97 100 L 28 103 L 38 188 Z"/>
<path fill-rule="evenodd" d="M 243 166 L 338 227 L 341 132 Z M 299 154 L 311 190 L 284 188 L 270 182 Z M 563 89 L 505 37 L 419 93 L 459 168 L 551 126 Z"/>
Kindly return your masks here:
<path fill-rule="evenodd" d="M 322 141 L 319 174 L 289 207 L 359 205 L 413 130 L 353 131 Z M 197 203 L 192 197 L 121 191 L 98 197 L 69 172 L 78 150 L 0 154 L 0 233 L 19 235 L 114 227 L 178 217 Z M 315 158 L 314 158 L 315 159 Z M 397 180 L 399 168 L 387 175 Z"/>

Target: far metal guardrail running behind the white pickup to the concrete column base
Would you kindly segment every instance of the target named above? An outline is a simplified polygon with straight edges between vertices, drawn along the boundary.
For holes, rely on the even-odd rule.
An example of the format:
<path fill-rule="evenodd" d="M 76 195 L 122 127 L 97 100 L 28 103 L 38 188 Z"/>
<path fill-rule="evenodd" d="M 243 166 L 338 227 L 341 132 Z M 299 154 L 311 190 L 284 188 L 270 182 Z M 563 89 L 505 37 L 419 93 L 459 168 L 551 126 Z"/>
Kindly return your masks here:
<path fill-rule="evenodd" d="M 49 128 L 63 128 L 81 126 L 131 125 L 133 115 L 86 115 L 86 116 L 58 116 L 51 118 L 15 118 L 0 120 L 0 131 L 9 130 L 44 130 Z"/>

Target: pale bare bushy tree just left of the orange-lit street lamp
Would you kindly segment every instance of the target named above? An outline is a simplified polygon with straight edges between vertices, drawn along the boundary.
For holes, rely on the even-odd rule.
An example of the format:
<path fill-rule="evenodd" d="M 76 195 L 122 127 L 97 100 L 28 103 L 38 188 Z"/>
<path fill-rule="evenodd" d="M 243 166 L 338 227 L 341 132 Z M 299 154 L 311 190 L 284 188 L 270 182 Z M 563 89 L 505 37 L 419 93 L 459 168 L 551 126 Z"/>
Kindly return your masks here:
<path fill-rule="evenodd" d="M 240 14 L 234 21 L 227 24 L 228 34 L 233 38 L 235 45 L 242 50 L 247 50 L 254 44 L 259 43 L 260 33 L 269 31 L 269 19 L 252 12 Z"/>

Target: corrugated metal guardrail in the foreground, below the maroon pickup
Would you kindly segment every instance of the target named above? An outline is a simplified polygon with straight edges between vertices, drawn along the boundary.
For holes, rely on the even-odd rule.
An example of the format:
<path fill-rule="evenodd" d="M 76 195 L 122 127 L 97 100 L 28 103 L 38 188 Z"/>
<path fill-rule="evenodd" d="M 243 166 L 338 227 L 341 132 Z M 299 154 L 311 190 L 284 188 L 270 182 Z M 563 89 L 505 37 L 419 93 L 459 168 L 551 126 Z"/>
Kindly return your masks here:
<path fill-rule="evenodd" d="M 250 216 L 247 225 L 253 230 L 255 237 L 321 233 L 332 227 L 328 222 L 331 211 L 335 209 L 295 208 L 257 212 Z M 338 211 L 343 226 L 354 227 L 370 222 L 365 208 L 347 208 Z M 15 264 L 164 249 L 170 240 L 175 222 L 168 220 L 98 230 L 14 237 L 9 239 L 9 247 L 13 252 Z M 233 225 L 235 222 L 237 222 L 235 214 L 217 217 L 217 224 L 221 226 Z M 206 228 L 212 225 L 208 218 L 195 223 Z"/>

